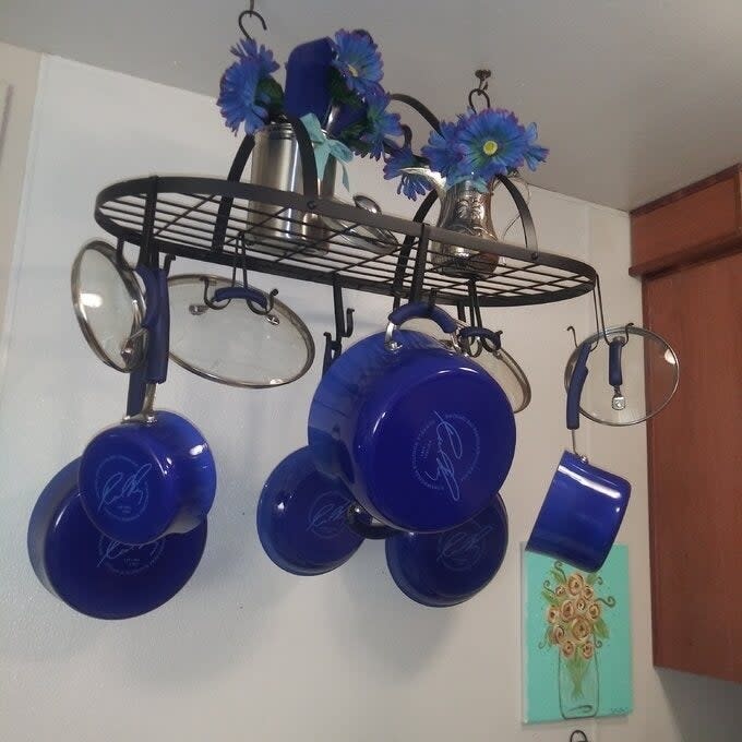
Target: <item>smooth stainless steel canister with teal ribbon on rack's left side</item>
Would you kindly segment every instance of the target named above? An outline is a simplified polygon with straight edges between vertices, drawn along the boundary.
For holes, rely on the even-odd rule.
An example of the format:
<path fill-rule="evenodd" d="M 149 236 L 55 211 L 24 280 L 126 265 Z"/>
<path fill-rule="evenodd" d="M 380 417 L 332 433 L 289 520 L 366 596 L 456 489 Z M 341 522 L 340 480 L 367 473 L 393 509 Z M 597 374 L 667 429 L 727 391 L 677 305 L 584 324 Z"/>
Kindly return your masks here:
<path fill-rule="evenodd" d="M 335 192 L 334 157 L 330 157 L 324 175 L 318 181 L 321 198 Z M 280 191 L 303 193 L 301 155 L 294 129 L 289 123 L 272 123 L 255 132 L 250 182 Z M 327 229 L 319 216 L 306 212 L 251 202 L 246 240 L 251 249 L 274 255 L 325 254 Z M 275 214 L 276 216 L 272 216 Z"/>

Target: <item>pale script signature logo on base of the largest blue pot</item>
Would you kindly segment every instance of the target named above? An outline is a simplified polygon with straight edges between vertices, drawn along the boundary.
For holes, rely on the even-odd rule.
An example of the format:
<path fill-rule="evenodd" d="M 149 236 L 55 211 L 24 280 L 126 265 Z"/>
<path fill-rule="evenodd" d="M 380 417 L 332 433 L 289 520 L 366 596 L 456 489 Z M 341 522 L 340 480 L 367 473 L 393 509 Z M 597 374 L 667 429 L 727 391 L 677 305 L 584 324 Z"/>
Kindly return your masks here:
<path fill-rule="evenodd" d="M 456 412 L 433 411 L 412 447 L 412 469 L 418 481 L 460 500 L 460 484 L 479 460 L 479 432 L 471 420 Z"/>

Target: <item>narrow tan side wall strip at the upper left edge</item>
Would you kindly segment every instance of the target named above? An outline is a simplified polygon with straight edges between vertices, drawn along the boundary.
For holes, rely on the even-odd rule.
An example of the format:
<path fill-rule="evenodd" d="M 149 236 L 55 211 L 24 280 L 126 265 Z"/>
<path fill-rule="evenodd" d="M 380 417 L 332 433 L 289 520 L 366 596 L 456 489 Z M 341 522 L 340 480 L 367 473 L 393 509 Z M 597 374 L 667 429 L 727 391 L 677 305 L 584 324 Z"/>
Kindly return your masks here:
<path fill-rule="evenodd" d="M 4 116 L 3 101 L 0 100 L 0 324 L 11 271 L 40 58 L 35 51 L 0 43 L 0 95 L 3 83 L 9 86 Z"/>

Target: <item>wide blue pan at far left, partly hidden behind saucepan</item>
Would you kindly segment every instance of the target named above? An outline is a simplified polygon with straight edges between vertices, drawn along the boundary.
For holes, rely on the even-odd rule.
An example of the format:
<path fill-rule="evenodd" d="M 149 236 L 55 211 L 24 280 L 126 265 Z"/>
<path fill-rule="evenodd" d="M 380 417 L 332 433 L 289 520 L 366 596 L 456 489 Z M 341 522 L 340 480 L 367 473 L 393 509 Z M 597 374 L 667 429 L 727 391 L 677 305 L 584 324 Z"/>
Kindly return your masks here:
<path fill-rule="evenodd" d="M 190 579 L 206 544 L 206 522 L 184 535 L 131 547 L 93 526 L 77 487 L 80 459 L 41 492 L 28 524 L 28 556 L 41 584 L 96 619 L 129 619 L 172 598 Z"/>

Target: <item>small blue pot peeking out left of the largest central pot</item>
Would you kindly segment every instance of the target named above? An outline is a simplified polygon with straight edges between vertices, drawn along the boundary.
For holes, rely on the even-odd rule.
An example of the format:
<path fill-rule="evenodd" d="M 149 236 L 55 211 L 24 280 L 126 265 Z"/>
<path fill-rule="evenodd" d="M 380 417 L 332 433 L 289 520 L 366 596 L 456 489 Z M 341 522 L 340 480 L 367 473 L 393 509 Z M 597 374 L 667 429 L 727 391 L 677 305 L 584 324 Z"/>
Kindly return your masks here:
<path fill-rule="evenodd" d="M 258 503 L 258 535 L 282 570 L 319 575 L 347 562 L 363 542 L 349 528 L 350 492 L 316 470 L 309 448 L 271 472 Z"/>

